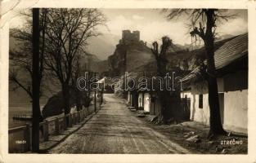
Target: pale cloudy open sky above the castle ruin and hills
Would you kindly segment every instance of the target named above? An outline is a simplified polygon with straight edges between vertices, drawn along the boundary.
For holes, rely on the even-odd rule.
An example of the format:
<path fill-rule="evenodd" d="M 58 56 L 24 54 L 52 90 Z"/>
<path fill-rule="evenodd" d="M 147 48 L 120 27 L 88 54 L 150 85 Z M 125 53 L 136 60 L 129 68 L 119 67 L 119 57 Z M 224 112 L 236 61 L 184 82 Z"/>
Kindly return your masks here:
<path fill-rule="evenodd" d="M 189 22 L 187 16 L 179 17 L 175 20 L 167 20 L 159 9 L 102 9 L 107 17 L 107 27 L 101 29 L 102 33 L 111 33 L 121 37 L 122 30 L 130 29 L 141 31 L 141 40 L 146 42 L 159 41 L 163 36 L 169 36 L 173 42 L 184 45 L 191 43 L 188 34 L 189 29 L 186 24 Z M 237 35 L 248 30 L 247 11 L 230 10 L 231 14 L 236 14 L 236 18 L 222 21 L 218 26 L 219 35 Z"/>

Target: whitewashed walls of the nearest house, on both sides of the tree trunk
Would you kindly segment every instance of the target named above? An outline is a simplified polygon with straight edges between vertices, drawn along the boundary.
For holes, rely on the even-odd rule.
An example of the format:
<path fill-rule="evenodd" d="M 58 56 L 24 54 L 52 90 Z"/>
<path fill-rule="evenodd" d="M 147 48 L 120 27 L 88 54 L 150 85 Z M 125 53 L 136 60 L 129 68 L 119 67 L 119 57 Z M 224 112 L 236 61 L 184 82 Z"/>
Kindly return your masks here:
<path fill-rule="evenodd" d="M 236 72 L 218 78 L 220 112 L 222 125 L 226 130 L 247 133 L 248 79 L 246 77 L 247 72 Z M 199 108 L 200 94 L 203 95 L 203 108 Z M 185 98 L 185 95 L 191 99 L 191 121 L 209 125 L 207 82 L 192 84 L 191 90 L 182 91 L 181 97 Z"/>

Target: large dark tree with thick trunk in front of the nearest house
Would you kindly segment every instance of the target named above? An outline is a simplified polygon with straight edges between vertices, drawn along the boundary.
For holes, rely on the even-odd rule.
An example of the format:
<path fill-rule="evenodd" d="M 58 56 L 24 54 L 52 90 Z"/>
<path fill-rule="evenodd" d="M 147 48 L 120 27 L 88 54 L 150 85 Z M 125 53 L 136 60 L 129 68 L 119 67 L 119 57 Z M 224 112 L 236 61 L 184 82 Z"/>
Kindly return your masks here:
<path fill-rule="evenodd" d="M 218 9 L 174 9 L 168 12 L 167 17 L 169 20 L 173 20 L 181 15 L 188 15 L 191 20 L 191 36 L 198 36 L 204 41 L 207 65 L 205 66 L 206 69 L 201 72 L 205 72 L 204 77 L 206 77 L 208 81 L 210 109 L 209 137 L 214 134 L 226 134 L 226 131 L 222 128 L 218 101 L 218 84 L 214 62 L 214 38 L 216 36 L 218 22 L 228 20 L 235 15 L 229 14 L 227 10 Z"/>

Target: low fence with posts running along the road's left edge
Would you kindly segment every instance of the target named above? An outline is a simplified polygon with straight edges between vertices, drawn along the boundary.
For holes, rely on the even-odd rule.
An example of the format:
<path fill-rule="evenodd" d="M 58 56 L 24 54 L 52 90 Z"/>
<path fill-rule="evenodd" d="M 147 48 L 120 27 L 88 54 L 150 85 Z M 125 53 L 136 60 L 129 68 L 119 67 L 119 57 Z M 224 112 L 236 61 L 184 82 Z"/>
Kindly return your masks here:
<path fill-rule="evenodd" d="M 42 121 L 40 126 L 40 142 L 47 141 L 49 135 L 61 134 L 68 127 L 72 127 L 75 124 L 83 121 L 88 115 L 92 114 L 94 109 L 83 108 L 80 111 L 73 112 L 62 117 L 55 117 L 52 119 Z M 69 124 L 66 124 L 65 119 L 68 118 Z M 31 137 L 32 126 L 26 124 L 25 126 L 19 126 L 11 128 L 8 131 L 9 135 L 9 152 L 28 152 L 31 149 Z"/>

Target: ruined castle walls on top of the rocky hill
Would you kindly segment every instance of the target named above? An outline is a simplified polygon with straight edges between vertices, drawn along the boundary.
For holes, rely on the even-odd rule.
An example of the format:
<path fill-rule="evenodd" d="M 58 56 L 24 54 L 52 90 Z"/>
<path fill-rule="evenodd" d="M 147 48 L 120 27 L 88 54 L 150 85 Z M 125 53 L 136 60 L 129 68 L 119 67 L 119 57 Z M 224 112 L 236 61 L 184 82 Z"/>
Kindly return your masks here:
<path fill-rule="evenodd" d="M 146 45 L 146 42 L 140 40 L 140 31 L 131 31 L 130 30 L 123 30 L 122 32 L 122 39 L 119 40 L 119 44 L 131 44 L 131 43 L 143 43 Z"/>

